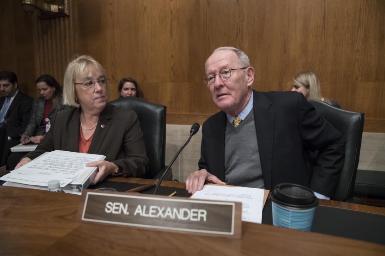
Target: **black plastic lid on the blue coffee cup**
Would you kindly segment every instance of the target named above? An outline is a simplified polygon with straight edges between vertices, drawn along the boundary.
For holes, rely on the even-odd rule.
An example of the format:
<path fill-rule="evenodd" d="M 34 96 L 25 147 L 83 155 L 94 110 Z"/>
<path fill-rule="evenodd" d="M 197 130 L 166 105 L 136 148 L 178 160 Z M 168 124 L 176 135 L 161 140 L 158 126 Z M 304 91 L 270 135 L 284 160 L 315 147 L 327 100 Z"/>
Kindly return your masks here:
<path fill-rule="evenodd" d="M 273 202 L 295 208 L 311 208 L 318 205 L 318 199 L 310 188 L 293 183 L 281 183 L 270 194 Z"/>

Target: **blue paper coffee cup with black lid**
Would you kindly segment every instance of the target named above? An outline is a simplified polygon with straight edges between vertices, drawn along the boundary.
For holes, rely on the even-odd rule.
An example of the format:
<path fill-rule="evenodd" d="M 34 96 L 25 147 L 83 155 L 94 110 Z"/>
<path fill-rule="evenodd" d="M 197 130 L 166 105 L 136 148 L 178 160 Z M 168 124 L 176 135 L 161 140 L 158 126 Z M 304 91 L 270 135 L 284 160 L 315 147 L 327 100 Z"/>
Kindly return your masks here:
<path fill-rule="evenodd" d="M 273 225 L 285 228 L 311 230 L 318 199 L 305 186 L 281 183 L 270 195 Z"/>

